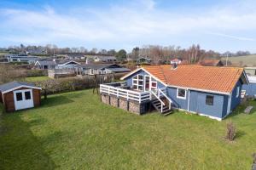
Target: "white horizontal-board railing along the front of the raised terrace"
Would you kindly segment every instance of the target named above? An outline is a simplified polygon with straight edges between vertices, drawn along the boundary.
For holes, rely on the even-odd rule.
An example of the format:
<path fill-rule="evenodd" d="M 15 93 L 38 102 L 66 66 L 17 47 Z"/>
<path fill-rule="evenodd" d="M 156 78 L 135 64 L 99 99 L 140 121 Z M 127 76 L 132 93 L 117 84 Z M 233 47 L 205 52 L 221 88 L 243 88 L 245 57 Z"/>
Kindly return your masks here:
<path fill-rule="evenodd" d="M 142 103 L 144 101 L 150 100 L 150 92 L 136 92 L 133 90 L 128 90 L 124 88 L 119 87 L 113 87 L 108 84 L 101 84 L 100 85 L 100 92 L 105 94 L 112 94 L 122 98 L 125 98 L 127 100 L 135 100 L 139 103 Z"/>

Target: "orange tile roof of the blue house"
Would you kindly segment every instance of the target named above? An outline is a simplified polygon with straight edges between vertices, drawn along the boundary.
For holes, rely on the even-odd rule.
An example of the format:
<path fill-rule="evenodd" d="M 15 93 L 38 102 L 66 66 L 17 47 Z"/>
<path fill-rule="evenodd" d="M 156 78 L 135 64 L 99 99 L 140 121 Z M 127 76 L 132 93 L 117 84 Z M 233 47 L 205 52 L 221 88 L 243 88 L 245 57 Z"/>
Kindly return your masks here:
<path fill-rule="evenodd" d="M 178 65 L 176 69 L 171 65 L 148 65 L 143 69 L 170 86 L 222 93 L 230 93 L 243 72 L 243 68 L 201 65 Z"/>

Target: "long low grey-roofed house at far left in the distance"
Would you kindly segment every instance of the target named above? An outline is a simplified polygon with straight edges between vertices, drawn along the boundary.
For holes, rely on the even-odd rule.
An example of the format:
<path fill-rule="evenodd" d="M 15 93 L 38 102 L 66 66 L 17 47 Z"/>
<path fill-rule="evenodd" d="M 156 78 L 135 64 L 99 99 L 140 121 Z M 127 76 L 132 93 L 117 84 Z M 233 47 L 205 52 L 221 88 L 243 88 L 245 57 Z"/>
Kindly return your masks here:
<path fill-rule="evenodd" d="M 28 64 L 35 63 L 38 60 L 36 56 L 28 56 L 23 54 L 7 54 L 4 56 L 8 62 L 26 62 Z"/>

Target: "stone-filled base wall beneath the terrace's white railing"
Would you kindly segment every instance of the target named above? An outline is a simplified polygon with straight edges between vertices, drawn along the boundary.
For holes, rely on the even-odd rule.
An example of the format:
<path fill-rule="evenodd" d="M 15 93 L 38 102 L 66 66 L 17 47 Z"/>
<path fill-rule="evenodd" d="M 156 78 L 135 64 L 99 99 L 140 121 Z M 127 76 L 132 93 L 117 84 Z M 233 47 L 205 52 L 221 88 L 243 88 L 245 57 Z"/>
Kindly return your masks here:
<path fill-rule="evenodd" d="M 109 96 L 108 94 L 101 94 L 101 98 L 102 102 L 107 105 L 113 105 L 114 107 L 118 107 L 125 111 L 136 113 L 137 115 L 141 115 L 148 111 L 148 109 L 145 109 L 147 104 L 139 104 L 136 101 L 127 101 L 123 98 L 118 99 L 116 96 Z"/>

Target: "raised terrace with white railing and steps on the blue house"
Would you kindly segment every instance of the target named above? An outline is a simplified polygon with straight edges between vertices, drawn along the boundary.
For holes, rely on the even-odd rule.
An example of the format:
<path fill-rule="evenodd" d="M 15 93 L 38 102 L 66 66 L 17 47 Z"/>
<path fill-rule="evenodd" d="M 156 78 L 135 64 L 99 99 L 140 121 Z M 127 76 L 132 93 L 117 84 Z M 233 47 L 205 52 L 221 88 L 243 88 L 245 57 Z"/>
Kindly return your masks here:
<path fill-rule="evenodd" d="M 119 107 L 119 99 L 127 102 L 136 103 L 138 109 L 137 111 L 133 112 L 138 112 L 139 114 L 148 111 L 148 104 L 153 104 L 154 108 L 161 113 L 171 110 L 172 99 L 167 96 L 166 88 L 141 90 L 137 87 L 127 86 L 127 82 L 112 82 L 107 84 L 101 84 L 100 93 L 105 97 L 109 97 L 107 100 L 102 99 L 104 103 L 107 103 L 109 105 Z M 111 100 L 117 100 L 117 104 L 111 103 Z M 127 106 L 127 108 L 128 107 L 129 106 Z"/>

